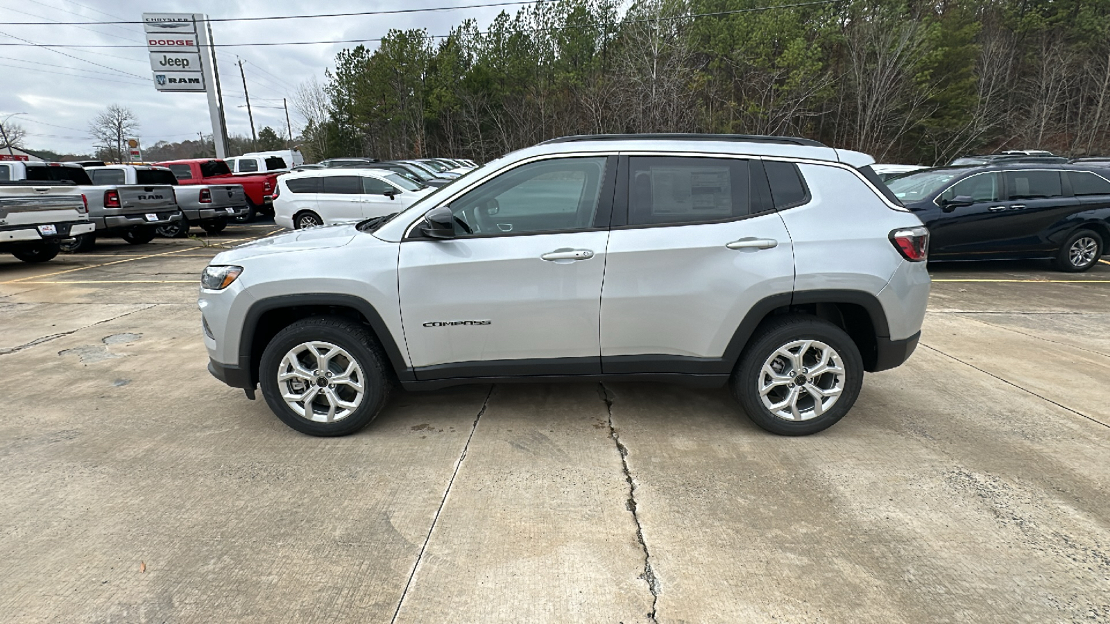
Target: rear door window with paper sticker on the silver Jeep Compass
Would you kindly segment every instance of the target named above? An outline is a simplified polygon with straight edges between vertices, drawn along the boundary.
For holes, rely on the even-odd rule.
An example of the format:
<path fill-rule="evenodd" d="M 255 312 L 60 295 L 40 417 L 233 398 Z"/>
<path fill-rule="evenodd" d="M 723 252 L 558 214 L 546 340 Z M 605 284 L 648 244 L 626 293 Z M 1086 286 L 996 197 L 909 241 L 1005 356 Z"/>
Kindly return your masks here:
<path fill-rule="evenodd" d="M 749 213 L 746 160 L 632 157 L 628 163 L 629 225 L 710 223 Z"/>

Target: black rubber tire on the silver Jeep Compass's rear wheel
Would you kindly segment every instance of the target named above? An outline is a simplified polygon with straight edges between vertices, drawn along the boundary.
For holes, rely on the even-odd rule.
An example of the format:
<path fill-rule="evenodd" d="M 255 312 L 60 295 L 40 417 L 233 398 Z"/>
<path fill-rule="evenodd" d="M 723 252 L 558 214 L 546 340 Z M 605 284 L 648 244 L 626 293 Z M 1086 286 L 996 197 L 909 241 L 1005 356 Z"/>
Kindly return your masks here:
<path fill-rule="evenodd" d="M 796 392 L 797 399 L 794 401 L 794 404 L 797 412 L 793 413 L 800 414 L 807 419 L 787 420 L 786 417 L 776 415 L 764 404 L 759 393 L 765 378 L 763 368 L 770 360 L 773 369 L 775 365 L 784 365 L 784 370 L 781 371 L 775 369 L 783 376 L 789 376 L 791 371 L 795 374 L 805 376 L 803 371 L 794 370 L 794 365 L 786 358 L 771 360 L 773 355 L 780 348 L 803 340 L 824 343 L 831 348 L 839 356 L 840 369 L 842 370 L 839 383 L 840 393 L 835 401 L 826 405 L 827 411 L 814 415 L 816 399 L 813 393 L 797 389 L 796 384 L 786 385 L 781 382 L 774 384 L 773 391 L 768 393 L 768 400 L 779 403 L 789 400 L 789 396 L 791 396 L 790 392 Z M 796 349 L 800 352 L 801 348 L 799 345 Z M 804 359 L 803 366 L 807 366 L 816 363 L 814 360 L 815 354 L 816 350 L 810 350 L 796 355 L 801 355 Z M 790 366 L 791 371 L 785 370 L 786 366 Z M 811 380 L 809 386 L 829 390 L 835 385 L 834 382 L 837 376 L 836 373 L 817 375 Z M 856 403 L 862 383 L 864 360 L 859 354 L 859 348 L 856 346 L 851 338 L 833 323 L 823 321 L 816 316 L 797 314 L 766 321 L 756 331 L 740 355 L 739 362 L 736 364 L 730 385 L 733 393 L 737 401 L 739 401 L 740 406 L 744 407 L 744 411 L 747 412 L 748 417 L 760 427 L 778 435 L 809 435 L 833 426 L 844 417 L 848 413 L 848 410 Z M 825 402 L 823 401 L 824 404 Z"/>

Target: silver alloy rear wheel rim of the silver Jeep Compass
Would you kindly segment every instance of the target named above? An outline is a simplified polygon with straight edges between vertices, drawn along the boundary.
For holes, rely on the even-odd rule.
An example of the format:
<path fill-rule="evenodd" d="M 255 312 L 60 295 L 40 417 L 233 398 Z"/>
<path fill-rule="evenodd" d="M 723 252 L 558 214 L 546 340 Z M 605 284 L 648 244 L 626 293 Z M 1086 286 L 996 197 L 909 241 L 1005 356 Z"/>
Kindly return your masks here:
<path fill-rule="evenodd" d="M 796 340 L 776 349 L 759 371 L 759 399 L 787 421 L 808 421 L 828 412 L 844 391 L 840 354 L 816 340 Z"/>

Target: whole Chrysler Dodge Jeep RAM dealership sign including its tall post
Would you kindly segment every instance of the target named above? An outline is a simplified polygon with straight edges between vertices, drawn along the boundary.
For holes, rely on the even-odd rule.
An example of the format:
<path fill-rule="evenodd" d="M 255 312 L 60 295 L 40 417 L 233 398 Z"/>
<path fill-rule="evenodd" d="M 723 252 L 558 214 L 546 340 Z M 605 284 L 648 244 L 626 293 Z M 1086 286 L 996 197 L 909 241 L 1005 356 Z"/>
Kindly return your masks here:
<path fill-rule="evenodd" d="M 212 27 L 204 13 L 143 13 L 154 89 L 206 93 L 216 158 L 228 157 L 228 123 L 212 46 Z"/>

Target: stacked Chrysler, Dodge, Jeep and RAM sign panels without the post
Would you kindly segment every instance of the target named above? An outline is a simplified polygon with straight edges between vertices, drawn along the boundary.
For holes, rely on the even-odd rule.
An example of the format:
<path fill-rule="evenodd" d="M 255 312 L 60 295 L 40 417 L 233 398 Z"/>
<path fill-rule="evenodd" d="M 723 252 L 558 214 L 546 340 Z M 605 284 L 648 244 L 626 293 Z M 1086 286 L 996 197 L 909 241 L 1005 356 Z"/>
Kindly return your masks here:
<path fill-rule="evenodd" d="M 143 13 L 150 69 L 159 91 L 206 91 L 204 67 L 192 13 Z"/>

